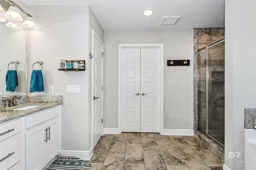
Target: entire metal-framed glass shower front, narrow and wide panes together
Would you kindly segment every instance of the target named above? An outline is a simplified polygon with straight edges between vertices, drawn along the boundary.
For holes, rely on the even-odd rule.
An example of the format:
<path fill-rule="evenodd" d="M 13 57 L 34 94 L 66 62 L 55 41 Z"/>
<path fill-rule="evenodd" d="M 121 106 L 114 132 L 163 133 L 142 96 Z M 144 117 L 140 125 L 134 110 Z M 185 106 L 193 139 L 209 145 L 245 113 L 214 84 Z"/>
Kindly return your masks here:
<path fill-rule="evenodd" d="M 224 147 L 225 39 L 198 51 L 198 129 Z"/>

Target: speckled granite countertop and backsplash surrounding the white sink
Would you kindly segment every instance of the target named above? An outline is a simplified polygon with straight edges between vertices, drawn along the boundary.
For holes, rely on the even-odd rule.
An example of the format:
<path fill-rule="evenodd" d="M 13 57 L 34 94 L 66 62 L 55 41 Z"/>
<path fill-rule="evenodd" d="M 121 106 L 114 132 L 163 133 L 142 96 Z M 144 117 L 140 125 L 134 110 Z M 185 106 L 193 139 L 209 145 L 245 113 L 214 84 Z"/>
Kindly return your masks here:
<path fill-rule="evenodd" d="M 24 102 L 18 103 L 17 106 L 0 107 L 0 123 L 63 104 L 62 96 L 31 96 L 28 100 L 26 98 L 28 97 L 25 96 L 25 100 L 22 99 Z M 32 105 L 38 107 L 26 110 L 12 110 Z"/>

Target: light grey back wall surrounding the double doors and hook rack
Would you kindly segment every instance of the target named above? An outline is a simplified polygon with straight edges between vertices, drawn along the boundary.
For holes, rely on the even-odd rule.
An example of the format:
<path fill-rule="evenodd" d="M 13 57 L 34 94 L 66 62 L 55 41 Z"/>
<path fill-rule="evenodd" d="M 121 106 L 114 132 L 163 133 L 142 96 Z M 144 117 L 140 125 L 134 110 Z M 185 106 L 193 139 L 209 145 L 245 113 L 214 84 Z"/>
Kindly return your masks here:
<path fill-rule="evenodd" d="M 164 129 L 193 129 L 193 29 L 105 31 L 104 127 L 118 127 L 118 44 L 129 43 L 164 43 Z"/>

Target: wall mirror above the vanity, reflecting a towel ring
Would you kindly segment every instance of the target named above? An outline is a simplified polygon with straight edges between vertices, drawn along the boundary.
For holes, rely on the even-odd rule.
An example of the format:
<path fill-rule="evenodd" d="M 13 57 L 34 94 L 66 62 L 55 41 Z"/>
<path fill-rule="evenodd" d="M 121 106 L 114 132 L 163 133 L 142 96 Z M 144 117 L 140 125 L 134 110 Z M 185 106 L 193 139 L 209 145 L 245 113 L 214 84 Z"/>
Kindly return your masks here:
<path fill-rule="evenodd" d="M 1 17 L 1 15 L 0 15 Z M 0 98 L 3 95 L 26 95 L 27 74 L 27 30 L 12 29 L 6 26 L 8 21 L 0 22 Z M 17 66 L 18 86 L 14 92 L 5 92 L 6 73 L 15 70 Z M 11 63 L 11 64 L 10 64 Z M 8 66 L 9 65 L 9 66 Z"/>

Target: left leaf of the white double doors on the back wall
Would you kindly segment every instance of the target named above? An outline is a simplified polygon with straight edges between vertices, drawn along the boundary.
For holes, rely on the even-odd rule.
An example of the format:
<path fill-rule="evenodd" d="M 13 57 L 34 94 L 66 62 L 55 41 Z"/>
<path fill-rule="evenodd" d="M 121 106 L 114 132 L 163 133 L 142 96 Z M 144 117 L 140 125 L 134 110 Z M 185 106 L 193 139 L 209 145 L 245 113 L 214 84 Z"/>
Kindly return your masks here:
<path fill-rule="evenodd" d="M 140 48 L 122 48 L 121 63 L 121 130 L 140 132 Z"/>

